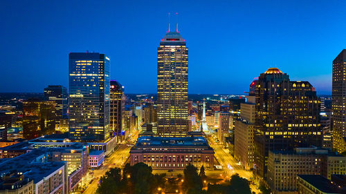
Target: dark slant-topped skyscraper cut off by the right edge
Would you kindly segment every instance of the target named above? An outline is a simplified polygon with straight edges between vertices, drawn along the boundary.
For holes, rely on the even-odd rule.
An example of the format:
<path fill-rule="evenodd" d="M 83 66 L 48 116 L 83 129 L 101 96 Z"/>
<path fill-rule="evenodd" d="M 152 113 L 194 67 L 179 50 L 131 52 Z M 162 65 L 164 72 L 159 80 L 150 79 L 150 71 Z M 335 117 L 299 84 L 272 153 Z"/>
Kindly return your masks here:
<path fill-rule="evenodd" d="M 333 61 L 333 148 L 346 151 L 346 49 Z"/>

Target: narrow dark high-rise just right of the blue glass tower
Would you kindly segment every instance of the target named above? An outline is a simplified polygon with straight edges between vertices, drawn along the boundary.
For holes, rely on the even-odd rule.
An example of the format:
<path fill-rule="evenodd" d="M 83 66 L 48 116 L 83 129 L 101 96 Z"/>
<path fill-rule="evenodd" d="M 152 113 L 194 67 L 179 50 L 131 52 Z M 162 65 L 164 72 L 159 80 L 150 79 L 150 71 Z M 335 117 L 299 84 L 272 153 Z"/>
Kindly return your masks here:
<path fill-rule="evenodd" d="M 116 80 L 111 80 L 111 109 L 110 120 L 111 130 L 119 137 L 122 138 L 122 115 L 125 111 L 125 95 L 124 87 Z"/>

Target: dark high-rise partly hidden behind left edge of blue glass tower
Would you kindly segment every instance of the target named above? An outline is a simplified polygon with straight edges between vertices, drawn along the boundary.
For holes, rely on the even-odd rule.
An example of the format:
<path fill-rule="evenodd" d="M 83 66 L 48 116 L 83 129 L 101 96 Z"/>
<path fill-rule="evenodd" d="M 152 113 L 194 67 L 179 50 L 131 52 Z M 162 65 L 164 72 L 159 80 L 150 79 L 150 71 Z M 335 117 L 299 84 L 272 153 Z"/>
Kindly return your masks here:
<path fill-rule="evenodd" d="M 44 98 L 55 101 L 55 122 L 57 126 L 60 119 L 67 118 L 67 90 L 64 86 L 48 86 L 44 88 Z"/>

